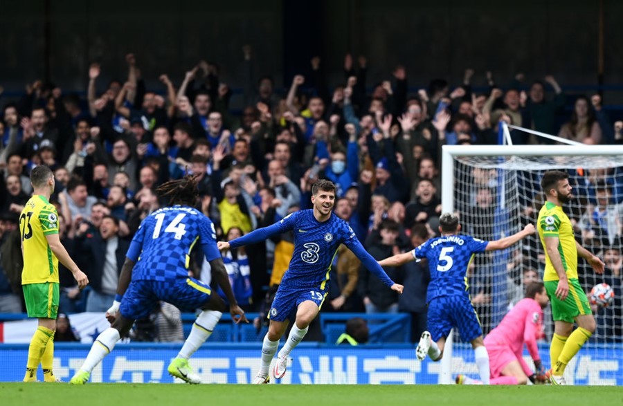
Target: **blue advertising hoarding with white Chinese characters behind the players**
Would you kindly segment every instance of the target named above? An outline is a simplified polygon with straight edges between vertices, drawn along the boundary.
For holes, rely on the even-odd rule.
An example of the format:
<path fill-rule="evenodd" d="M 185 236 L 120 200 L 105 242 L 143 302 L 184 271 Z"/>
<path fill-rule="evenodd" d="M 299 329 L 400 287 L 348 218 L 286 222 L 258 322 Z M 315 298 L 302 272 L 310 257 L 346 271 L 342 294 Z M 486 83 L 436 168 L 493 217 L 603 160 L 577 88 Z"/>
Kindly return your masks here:
<path fill-rule="evenodd" d="M 172 383 L 174 380 L 166 369 L 180 347 L 179 344 L 118 344 L 93 370 L 91 382 Z M 55 375 L 69 380 L 82 365 L 89 348 L 84 344 L 57 343 Z M 208 344 L 192 356 L 190 365 L 204 383 L 249 383 L 258 370 L 260 348 L 259 343 Z M 547 345 L 541 345 L 539 350 L 544 360 L 549 358 Z M 26 344 L 0 344 L 3 360 L 0 381 L 21 380 L 27 355 Z M 278 383 L 436 384 L 440 381 L 440 363 L 418 362 L 413 347 L 320 347 L 303 343 L 293 351 L 292 357 L 293 364 Z M 622 361 L 623 348 L 619 344 L 610 348 L 587 346 L 567 367 L 567 381 L 572 385 L 623 385 Z M 477 371 L 471 348 L 457 345 L 453 352 L 453 376 L 466 373 L 476 378 Z"/>

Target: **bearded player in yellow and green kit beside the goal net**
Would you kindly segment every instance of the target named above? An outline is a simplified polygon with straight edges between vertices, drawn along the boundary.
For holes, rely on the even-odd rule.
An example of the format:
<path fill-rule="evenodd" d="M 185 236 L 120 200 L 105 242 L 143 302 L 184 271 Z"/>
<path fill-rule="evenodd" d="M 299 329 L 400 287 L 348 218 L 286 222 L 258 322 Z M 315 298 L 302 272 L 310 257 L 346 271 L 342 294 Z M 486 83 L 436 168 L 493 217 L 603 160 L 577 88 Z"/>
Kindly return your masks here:
<path fill-rule="evenodd" d="M 577 256 L 586 259 L 596 273 L 604 262 L 575 241 L 573 227 L 562 205 L 573 198 L 569 175 L 561 171 L 543 174 L 541 188 L 547 201 L 539 212 L 539 237 L 545 249 L 543 282 L 552 302 L 554 337 L 550 346 L 552 385 L 566 385 L 563 377 L 571 358 L 595 332 L 595 318 L 577 279 Z M 573 330 L 573 322 L 577 329 Z"/>

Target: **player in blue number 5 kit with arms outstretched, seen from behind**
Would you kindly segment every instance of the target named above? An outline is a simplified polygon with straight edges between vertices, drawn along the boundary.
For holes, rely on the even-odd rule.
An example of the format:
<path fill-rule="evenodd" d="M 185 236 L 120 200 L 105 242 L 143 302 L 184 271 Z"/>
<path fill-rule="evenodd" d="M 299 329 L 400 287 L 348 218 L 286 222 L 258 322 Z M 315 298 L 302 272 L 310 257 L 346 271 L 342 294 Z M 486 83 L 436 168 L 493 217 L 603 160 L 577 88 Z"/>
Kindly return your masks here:
<path fill-rule="evenodd" d="M 427 259 L 431 283 L 426 292 L 428 330 L 422 333 L 415 355 L 424 360 L 442 359 L 444 344 L 451 329 L 458 329 L 461 338 L 471 342 L 476 355 L 480 380 L 489 384 L 489 355 L 482 340 L 482 328 L 467 290 L 467 268 L 478 252 L 504 250 L 519 240 L 534 234 L 534 225 L 496 241 L 482 241 L 467 235 L 458 235 L 461 225 L 458 217 L 444 213 L 439 219 L 441 237 L 429 239 L 421 246 L 379 261 L 380 266 L 399 266 L 415 259 Z"/>

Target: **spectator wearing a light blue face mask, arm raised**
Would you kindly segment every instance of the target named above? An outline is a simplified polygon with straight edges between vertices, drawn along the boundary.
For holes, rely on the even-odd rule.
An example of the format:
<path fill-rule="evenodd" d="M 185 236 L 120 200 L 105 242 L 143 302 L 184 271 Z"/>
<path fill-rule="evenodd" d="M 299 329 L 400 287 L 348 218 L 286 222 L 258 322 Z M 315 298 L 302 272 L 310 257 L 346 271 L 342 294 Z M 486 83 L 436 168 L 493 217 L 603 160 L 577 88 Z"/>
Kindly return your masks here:
<path fill-rule="evenodd" d="M 343 197 L 348 187 L 359 178 L 359 155 L 354 125 L 346 124 L 345 129 L 349 134 L 346 152 L 343 149 L 337 149 L 330 155 L 330 165 L 325 167 L 323 176 L 337 186 L 336 197 L 338 198 Z M 320 160 L 329 157 L 325 142 L 317 142 L 316 147 L 316 156 Z"/>

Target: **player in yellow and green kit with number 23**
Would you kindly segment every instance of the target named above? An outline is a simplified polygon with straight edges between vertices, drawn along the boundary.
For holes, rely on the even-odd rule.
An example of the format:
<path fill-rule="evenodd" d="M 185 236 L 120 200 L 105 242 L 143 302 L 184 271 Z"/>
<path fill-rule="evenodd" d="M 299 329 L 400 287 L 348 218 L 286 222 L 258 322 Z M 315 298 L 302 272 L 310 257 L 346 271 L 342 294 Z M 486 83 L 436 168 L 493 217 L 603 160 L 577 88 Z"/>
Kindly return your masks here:
<path fill-rule="evenodd" d="M 58 311 L 58 261 L 71 270 L 80 288 L 89 283 L 78 266 L 69 257 L 58 237 L 58 214 L 50 203 L 54 190 L 54 175 L 45 165 L 30 172 L 33 197 L 28 200 L 19 216 L 21 251 L 24 270 L 21 284 L 28 317 L 37 317 L 39 326 L 28 347 L 28 362 L 24 382 L 37 380 L 41 362 L 46 382 L 55 382 L 52 372 L 54 359 L 54 332 Z"/>

